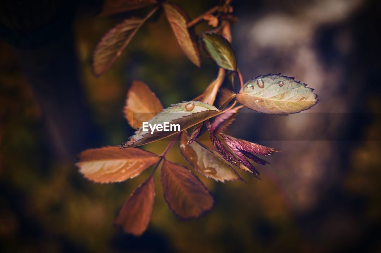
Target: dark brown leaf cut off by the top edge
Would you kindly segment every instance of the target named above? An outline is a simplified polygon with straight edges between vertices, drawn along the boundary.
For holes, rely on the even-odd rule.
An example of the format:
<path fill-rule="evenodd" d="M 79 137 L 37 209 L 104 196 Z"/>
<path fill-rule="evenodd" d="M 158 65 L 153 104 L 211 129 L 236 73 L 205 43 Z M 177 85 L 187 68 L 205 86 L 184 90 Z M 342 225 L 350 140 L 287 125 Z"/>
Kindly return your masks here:
<path fill-rule="evenodd" d="M 104 2 L 102 12 L 98 16 L 106 17 L 116 13 L 144 8 L 156 3 L 157 2 L 155 0 L 106 0 Z"/>

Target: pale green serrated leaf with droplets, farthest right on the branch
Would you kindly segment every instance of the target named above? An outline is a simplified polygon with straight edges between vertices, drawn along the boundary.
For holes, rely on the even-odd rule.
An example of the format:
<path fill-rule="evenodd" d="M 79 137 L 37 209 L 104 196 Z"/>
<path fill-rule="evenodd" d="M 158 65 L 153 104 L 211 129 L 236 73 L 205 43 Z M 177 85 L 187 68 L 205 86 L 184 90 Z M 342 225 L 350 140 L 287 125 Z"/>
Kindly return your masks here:
<path fill-rule="evenodd" d="M 288 115 L 317 103 L 314 89 L 280 74 L 257 76 L 243 85 L 236 99 L 243 106 L 266 114 Z"/>

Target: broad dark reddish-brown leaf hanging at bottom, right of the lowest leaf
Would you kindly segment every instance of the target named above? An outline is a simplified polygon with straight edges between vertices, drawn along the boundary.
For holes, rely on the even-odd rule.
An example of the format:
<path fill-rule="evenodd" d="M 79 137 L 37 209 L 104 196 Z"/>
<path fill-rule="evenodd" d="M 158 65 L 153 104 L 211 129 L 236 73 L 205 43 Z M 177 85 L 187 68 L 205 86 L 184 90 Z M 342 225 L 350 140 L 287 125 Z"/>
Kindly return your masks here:
<path fill-rule="evenodd" d="M 164 198 L 181 218 L 197 218 L 213 207 L 214 200 L 204 184 L 180 164 L 164 161 L 161 171 Z"/>

